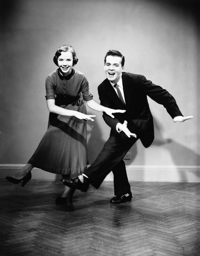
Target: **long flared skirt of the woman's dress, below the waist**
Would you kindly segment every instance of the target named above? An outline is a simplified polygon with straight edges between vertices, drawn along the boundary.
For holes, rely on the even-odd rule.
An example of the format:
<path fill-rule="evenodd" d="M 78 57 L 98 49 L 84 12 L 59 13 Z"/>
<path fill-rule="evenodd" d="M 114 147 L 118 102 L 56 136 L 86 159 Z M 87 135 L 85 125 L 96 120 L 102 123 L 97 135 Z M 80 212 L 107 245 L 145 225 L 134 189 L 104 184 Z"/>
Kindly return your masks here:
<path fill-rule="evenodd" d="M 60 107 L 86 114 L 82 97 L 76 102 Z M 80 174 L 87 166 L 86 120 L 55 114 L 54 116 L 54 121 L 28 163 L 56 174 Z"/>

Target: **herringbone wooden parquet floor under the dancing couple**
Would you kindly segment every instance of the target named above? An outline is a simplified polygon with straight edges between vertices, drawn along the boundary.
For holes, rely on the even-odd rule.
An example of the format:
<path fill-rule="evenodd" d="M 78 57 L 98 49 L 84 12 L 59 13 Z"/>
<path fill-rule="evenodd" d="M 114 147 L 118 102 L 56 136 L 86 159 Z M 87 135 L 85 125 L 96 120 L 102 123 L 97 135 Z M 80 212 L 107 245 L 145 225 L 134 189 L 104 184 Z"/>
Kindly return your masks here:
<path fill-rule="evenodd" d="M 111 205 L 112 182 L 55 205 L 59 181 L 0 181 L 1 256 L 200 255 L 195 183 L 131 182 L 132 202 Z"/>

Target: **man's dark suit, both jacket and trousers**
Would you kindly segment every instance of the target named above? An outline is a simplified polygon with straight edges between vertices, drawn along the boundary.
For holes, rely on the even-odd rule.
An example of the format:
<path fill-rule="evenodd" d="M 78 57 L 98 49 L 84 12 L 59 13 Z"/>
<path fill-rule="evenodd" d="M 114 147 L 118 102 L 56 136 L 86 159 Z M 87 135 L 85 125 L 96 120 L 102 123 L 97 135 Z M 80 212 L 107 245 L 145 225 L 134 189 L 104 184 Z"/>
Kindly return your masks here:
<path fill-rule="evenodd" d="M 115 118 L 103 113 L 104 121 L 111 127 L 111 134 L 96 160 L 84 172 L 89 177 L 90 183 L 98 189 L 107 174 L 113 171 L 115 195 L 130 192 L 123 161 L 127 151 L 137 139 L 141 140 L 145 148 L 148 148 L 154 139 L 153 117 L 147 96 L 163 105 L 172 118 L 182 116 L 174 97 L 167 90 L 146 80 L 143 75 L 122 72 L 122 84 L 126 106 L 120 101 L 108 79 L 98 87 L 101 105 L 125 109 L 126 112 L 115 113 Z M 124 123 L 124 120 L 128 122 L 127 128 L 131 133 L 135 133 L 137 138 L 128 138 L 123 131 L 117 132 L 117 123 Z"/>

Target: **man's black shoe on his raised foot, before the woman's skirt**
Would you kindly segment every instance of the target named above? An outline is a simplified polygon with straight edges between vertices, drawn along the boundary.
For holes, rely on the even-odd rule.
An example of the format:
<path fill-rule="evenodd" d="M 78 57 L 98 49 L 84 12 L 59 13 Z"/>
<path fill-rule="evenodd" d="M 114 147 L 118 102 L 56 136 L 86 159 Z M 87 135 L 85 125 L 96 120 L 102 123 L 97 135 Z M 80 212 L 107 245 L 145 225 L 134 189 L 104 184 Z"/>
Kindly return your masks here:
<path fill-rule="evenodd" d="M 68 180 L 62 178 L 60 181 L 67 187 L 72 187 L 83 192 L 87 192 L 89 188 L 89 182 L 87 180 L 88 178 L 83 176 L 83 183 L 80 181 L 80 179 L 78 179 L 78 177 L 74 177 Z"/>

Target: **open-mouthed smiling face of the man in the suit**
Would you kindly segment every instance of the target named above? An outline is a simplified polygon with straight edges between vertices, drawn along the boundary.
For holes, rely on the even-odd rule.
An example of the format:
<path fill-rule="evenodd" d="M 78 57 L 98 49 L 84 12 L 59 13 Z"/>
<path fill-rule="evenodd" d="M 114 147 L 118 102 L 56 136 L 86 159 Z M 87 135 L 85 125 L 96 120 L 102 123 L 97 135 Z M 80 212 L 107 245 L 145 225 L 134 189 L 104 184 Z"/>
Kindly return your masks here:
<path fill-rule="evenodd" d="M 122 76 L 122 58 L 118 56 L 107 56 L 104 70 L 106 72 L 107 79 L 114 84 L 117 84 Z"/>

